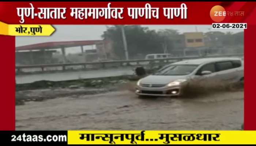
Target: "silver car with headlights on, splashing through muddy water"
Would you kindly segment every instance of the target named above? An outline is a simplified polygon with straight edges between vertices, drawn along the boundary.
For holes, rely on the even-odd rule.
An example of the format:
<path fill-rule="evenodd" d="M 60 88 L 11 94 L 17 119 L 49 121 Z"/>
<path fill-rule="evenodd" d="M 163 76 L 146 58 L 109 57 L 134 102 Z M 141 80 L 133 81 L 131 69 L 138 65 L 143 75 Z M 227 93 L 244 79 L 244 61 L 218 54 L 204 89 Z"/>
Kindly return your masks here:
<path fill-rule="evenodd" d="M 156 73 L 140 79 L 135 93 L 149 96 L 179 96 L 192 81 L 225 81 L 228 84 L 244 80 L 240 58 L 202 58 L 175 62 Z"/>

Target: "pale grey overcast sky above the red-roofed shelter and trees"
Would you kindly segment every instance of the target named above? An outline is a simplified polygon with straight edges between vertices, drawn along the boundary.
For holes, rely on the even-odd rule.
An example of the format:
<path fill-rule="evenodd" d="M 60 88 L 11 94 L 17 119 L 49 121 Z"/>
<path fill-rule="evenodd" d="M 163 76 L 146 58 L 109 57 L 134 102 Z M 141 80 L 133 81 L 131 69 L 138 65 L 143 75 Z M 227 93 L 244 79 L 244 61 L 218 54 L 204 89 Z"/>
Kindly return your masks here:
<path fill-rule="evenodd" d="M 142 25 L 150 30 L 175 29 L 180 33 L 195 32 L 196 27 L 199 32 L 207 31 L 231 31 L 233 33 L 243 31 L 242 29 L 212 29 L 211 25 Z M 106 25 L 54 25 L 56 31 L 50 37 L 16 37 L 16 46 L 30 45 L 42 42 L 54 41 L 82 41 L 102 39 L 101 35 L 106 30 Z M 91 49 L 87 46 L 84 49 Z M 66 49 L 67 53 L 80 51 L 80 47 Z"/>

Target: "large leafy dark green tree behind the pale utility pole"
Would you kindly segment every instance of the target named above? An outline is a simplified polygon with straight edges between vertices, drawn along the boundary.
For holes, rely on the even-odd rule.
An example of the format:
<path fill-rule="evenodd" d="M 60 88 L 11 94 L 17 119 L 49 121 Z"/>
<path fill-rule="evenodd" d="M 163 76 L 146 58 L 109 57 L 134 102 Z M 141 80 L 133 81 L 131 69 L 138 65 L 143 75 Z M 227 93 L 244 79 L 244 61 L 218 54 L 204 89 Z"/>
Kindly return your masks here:
<path fill-rule="evenodd" d="M 177 35 L 177 30 L 165 29 L 149 30 L 148 27 L 139 25 L 127 25 L 124 27 L 127 40 L 129 58 L 133 59 L 138 54 L 164 53 L 164 47 L 171 46 L 170 36 Z M 102 38 L 108 38 L 113 41 L 114 53 L 124 59 L 124 46 L 121 34 L 121 28 L 118 25 L 108 26 L 103 32 Z"/>

